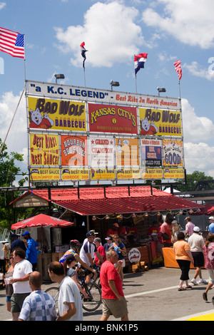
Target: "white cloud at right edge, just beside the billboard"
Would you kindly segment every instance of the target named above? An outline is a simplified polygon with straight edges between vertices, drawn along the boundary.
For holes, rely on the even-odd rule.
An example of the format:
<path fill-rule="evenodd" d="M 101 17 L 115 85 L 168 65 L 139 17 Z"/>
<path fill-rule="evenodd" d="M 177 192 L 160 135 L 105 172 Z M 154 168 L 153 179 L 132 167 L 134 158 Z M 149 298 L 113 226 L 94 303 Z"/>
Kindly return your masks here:
<path fill-rule="evenodd" d="M 187 99 L 182 99 L 183 133 L 186 142 L 199 142 L 214 138 L 212 120 L 197 116 Z"/>

